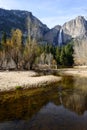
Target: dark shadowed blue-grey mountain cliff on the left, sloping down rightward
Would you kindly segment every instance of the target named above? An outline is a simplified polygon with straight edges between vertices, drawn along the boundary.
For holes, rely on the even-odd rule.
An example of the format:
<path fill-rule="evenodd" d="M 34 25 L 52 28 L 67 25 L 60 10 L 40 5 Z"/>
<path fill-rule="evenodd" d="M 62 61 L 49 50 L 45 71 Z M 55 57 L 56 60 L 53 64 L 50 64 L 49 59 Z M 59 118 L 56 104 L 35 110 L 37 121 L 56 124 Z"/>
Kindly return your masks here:
<path fill-rule="evenodd" d="M 22 30 L 26 36 L 28 17 L 32 23 L 31 36 L 37 39 L 43 39 L 44 34 L 49 31 L 49 28 L 34 17 L 31 12 L 20 10 L 0 9 L 0 36 L 3 31 L 9 35 L 11 30 L 16 28 Z"/>

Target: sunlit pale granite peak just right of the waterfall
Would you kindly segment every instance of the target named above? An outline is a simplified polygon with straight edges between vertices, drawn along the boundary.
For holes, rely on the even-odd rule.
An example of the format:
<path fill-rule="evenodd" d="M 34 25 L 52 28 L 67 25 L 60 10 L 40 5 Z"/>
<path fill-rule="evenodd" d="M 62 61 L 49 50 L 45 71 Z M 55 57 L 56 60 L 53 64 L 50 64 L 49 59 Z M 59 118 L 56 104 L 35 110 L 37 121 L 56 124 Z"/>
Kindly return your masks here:
<path fill-rule="evenodd" d="M 82 16 L 65 23 L 62 26 L 64 42 L 71 38 L 83 38 L 87 36 L 87 21 Z"/>

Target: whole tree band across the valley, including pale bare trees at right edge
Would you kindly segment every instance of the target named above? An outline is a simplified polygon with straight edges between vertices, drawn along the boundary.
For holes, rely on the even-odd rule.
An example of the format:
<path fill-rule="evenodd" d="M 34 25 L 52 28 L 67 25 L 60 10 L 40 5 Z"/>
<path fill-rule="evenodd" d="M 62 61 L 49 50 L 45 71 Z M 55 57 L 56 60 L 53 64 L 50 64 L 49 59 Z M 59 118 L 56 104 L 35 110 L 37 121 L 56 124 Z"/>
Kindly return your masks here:
<path fill-rule="evenodd" d="M 39 44 L 31 37 L 32 21 L 27 18 L 28 36 L 19 29 L 11 30 L 8 37 L 2 33 L 0 40 L 0 69 L 30 70 L 35 66 L 72 67 L 87 65 L 87 40 L 72 40 L 63 46 Z"/>

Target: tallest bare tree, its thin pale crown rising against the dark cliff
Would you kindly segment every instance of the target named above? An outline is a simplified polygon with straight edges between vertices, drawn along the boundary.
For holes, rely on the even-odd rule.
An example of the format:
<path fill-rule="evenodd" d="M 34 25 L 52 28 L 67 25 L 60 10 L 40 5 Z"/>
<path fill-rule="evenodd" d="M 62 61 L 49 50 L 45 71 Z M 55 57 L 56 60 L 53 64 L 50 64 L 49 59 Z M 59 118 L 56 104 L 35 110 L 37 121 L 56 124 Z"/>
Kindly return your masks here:
<path fill-rule="evenodd" d="M 25 61 L 25 68 L 26 69 L 32 69 L 33 63 L 36 59 L 37 56 L 37 42 L 34 38 L 31 37 L 31 30 L 32 30 L 32 21 L 30 17 L 27 17 L 27 31 L 28 31 L 28 38 L 26 39 L 25 42 L 25 47 L 24 47 L 24 61 Z"/>

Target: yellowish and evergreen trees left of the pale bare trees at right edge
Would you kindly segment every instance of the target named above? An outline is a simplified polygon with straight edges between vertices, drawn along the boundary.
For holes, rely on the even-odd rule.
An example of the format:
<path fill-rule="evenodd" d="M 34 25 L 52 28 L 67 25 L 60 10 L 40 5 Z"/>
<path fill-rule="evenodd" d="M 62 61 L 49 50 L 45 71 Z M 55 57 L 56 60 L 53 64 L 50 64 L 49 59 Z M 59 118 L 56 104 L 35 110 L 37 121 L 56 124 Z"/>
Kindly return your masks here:
<path fill-rule="evenodd" d="M 21 30 L 11 31 L 8 38 L 2 34 L 0 41 L 1 69 L 32 69 L 33 65 L 73 65 L 73 44 L 58 47 L 51 44 L 41 45 L 30 36 L 25 40 Z"/>

